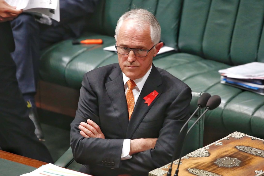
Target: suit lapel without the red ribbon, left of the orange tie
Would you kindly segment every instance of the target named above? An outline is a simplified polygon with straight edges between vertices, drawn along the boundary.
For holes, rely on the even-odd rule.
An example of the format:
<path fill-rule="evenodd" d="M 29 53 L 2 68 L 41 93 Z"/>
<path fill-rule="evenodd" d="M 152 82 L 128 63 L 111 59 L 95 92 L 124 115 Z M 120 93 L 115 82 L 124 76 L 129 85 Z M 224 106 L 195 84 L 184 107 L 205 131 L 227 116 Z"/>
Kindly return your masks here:
<path fill-rule="evenodd" d="M 113 105 L 116 118 L 119 121 L 121 128 L 123 129 L 124 135 L 126 134 L 128 125 L 128 110 L 126 105 L 126 95 L 123 82 L 123 76 L 120 67 L 118 66 L 109 75 L 111 81 L 105 83 L 107 94 Z"/>

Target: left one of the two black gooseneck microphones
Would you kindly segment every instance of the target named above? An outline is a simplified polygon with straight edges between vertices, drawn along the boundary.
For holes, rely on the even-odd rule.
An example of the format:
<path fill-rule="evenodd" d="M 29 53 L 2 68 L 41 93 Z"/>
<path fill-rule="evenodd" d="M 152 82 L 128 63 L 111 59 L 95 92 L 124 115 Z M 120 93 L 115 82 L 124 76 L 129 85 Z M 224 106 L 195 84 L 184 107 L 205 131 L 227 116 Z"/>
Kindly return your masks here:
<path fill-rule="evenodd" d="M 211 95 L 209 94 L 209 93 L 207 93 L 207 92 L 205 92 L 205 93 L 203 93 L 200 97 L 199 97 L 199 99 L 198 99 L 198 101 L 197 101 L 197 108 L 196 108 L 196 110 L 194 111 L 194 113 L 193 114 L 191 114 L 191 116 L 190 116 L 190 118 L 185 122 L 185 124 L 182 126 L 182 128 L 181 128 L 181 130 L 180 130 L 180 132 L 179 132 L 179 135 L 178 135 L 178 137 L 180 137 L 180 135 L 181 135 L 181 133 L 182 133 L 182 130 L 186 127 L 186 125 L 188 125 L 188 122 L 191 120 L 191 118 L 194 116 L 194 114 L 201 108 L 204 108 L 204 107 L 206 107 L 206 103 L 208 102 L 208 100 L 209 100 L 209 98 L 211 97 Z M 179 138 L 178 138 L 179 139 Z M 179 148 L 179 142 L 176 144 L 176 148 L 175 148 L 175 152 L 174 152 L 174 154 L 172 155 L 172 162 L 174 161 L 174 159 L 175 159 L 175 155 L 176 155 L 176 152 L 177 152 L 177 149 Z M 171 163 L 171 167 L 169 168 L 169 171 L 168 171 L 168 173 L 167 173 L 167 176 L 171 176 L 171 171 L 172 171 L 172 163 Z"/>

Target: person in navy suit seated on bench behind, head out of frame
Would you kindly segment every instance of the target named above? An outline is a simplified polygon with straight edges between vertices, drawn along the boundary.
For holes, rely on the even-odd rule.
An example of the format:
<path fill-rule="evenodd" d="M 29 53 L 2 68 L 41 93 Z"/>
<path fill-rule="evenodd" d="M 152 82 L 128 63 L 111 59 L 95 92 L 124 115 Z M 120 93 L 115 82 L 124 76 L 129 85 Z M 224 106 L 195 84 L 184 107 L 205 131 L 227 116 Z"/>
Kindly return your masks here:
<path fill-rule="evenodd" d="M 36 86 L 39 78 L 40 50 L 65 39 L 81 35 L 85 16 L 94 12 L 99 0 L 59 0 L 60 22 L 41 24 L 36 16 L 25 12 L 11 21 L 16 49 L 12 54 L 17 65 L 17 80 L 33 120 L 35 133 L 44 140 L 35 104 Z"/>

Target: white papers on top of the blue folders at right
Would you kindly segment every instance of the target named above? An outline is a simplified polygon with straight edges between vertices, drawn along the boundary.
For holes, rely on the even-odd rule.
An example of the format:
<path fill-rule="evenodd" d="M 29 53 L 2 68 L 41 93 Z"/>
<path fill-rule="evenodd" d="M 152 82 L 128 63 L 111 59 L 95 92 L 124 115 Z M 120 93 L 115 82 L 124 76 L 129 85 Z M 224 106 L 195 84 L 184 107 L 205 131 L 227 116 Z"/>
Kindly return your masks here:
<path fill-rule="evenodd" d="M 218 72 L 224 74 L 224 76 L 232 78 L 264 77 L 264 63 L 251 62 L 240 66 L 230 67 L 228 69 L 222 69 Z"/>

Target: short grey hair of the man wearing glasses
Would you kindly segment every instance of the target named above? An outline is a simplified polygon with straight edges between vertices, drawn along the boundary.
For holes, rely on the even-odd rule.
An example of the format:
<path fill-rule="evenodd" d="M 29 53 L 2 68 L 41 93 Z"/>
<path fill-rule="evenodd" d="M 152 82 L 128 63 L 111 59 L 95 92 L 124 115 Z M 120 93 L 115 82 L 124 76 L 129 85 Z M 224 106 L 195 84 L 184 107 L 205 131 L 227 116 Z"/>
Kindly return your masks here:
<path fill-rule="evenodd" d="M 140 29 L 150 29 L 150 37 L 154 44 L 160 42 L 160 24 L 157 21 L 156 17 L 150 13 L 148 10 L 145 9 L 132 9 L 124 13 L 118 20 L 116 28 L 115 28 L 115 35 L 118 36 L 119 29 L 121 28 L 122 24 L 126 20 L 133 20 L 137 22 L 137 26 Z"/>

